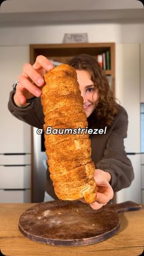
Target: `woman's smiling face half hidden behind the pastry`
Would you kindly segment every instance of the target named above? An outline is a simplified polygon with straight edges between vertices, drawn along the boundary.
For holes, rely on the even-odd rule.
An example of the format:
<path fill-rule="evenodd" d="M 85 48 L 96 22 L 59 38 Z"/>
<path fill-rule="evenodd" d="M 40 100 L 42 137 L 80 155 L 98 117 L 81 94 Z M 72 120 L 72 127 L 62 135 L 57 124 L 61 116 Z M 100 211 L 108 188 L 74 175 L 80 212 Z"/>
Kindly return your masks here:
<path fill-rule="evenodd" d="M 84 112 L 89 117 L 96 108 L 98 89 L 93 84 L 90 73 L 87 70 L 76 70 L 76 73 L 79 89 L 81 90 L 82 98 L 84 98 Z"/>

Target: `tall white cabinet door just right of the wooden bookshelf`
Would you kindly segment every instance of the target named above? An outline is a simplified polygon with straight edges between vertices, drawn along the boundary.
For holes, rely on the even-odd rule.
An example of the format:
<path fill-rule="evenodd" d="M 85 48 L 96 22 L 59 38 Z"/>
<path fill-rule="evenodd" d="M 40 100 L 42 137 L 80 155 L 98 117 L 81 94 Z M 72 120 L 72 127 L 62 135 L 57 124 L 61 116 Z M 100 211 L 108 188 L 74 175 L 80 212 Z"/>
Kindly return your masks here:
<path fill-rule="evenodd" d="M 115 97 L 128 112 L 126 152 L 140 152 L 140 45 L 116 45 Z"/>

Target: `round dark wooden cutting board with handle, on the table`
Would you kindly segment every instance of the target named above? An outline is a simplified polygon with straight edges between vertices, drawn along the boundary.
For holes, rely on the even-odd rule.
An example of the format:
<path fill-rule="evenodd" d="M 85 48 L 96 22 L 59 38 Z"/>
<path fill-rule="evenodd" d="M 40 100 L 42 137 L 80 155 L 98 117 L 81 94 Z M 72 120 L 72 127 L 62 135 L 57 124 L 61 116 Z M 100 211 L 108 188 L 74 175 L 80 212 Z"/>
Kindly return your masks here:
<path fill-rule="evenodd" d="M 80 246 L 98 243 L 118 232 L 118 213 L 139 210 L 134 202 L 107 204 L 99 210 L 80 201 L 54 200 L 24 211 L 18 227 L 23 235 L 43 244 Z"/>

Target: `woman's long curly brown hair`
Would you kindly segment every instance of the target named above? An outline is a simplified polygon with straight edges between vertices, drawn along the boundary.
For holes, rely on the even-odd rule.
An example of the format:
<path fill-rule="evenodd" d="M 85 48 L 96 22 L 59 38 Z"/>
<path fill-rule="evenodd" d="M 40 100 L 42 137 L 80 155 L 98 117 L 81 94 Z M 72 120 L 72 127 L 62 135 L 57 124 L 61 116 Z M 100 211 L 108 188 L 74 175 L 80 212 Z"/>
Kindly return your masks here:
<path fill-rule="evenodd" d="M 107 77 L 97 60 L 88 54 L 80 54 L 68 60 L 68 64 L 76 70 L 87 70 L 90 72 L 91 79 L 99 93 L 98 103 L 95 109 L 96 119 L 110 126 L 113 122 L 114 115 L 117 114 L 118 105 L 110 90 Z"/>

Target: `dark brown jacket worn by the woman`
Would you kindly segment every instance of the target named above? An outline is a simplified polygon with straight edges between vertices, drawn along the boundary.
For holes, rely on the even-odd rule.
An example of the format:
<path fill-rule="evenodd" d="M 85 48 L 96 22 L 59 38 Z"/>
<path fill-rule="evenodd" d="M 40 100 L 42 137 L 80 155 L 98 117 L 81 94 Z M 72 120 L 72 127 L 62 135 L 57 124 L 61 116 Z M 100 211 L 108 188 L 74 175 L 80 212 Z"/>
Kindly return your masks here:
<path fill-rule="evenodd" d="M 40 103 L 40 98 L 36 98 L 28 107 L 18 108 L 13 102 L 13 92 L 10 92 L 8 103 L 9 111 L 18 119 L 29 123 L 37 128 L 43 128 L 44 115 Z M 88 128 L 104 128 L 91 114 L 88 117 Z M 122 188 L 131 185 L 134 178 L 134 172 L 131 161 L 124 150 L 124 138 L 127 136 L 128 115 L 126 110 L 118 105 L 118 113 L 112 125 L 107 128 L 106 134 L 92 134 L 92 159 L 96 169 L 106 170 L 112 175 L 110 185 L 113 191 L 117 192 Z M 52 182 L 47 172 L 46 191 L 52 197 L 57 198 L 54 194 Z"/>

